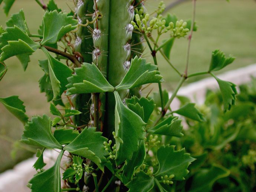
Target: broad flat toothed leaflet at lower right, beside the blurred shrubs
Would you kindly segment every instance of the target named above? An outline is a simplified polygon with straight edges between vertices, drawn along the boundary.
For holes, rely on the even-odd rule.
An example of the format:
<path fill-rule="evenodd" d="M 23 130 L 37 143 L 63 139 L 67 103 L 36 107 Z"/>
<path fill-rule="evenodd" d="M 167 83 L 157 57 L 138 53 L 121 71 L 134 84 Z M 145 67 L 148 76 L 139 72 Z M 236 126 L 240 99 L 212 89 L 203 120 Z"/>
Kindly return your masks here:
<path fill-rule="evenodd" d="M 158 171 L 155 177 L 174 175 L 173 180 L 184 180 L 188 174 L 188 166 L 195 159 L 185 153 L 185 149 L 174 150 L 175 146 L 162 146 L 157 150 Z"/>

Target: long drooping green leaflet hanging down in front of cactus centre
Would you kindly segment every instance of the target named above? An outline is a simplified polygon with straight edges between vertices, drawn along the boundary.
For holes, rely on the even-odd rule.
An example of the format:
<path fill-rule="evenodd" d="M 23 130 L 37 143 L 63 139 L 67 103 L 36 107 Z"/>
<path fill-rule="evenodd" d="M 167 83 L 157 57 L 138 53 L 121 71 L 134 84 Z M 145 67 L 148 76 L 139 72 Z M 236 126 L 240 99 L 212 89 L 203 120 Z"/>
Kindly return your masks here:
<path fill-rule="evenodd" d="M 115 95 L 115 140 L 116 165 L 132 158 L 138 150 L 139 141 L 144 139 L 145 123 L 136 113 L 124 105 L 117 91 Z"/>

